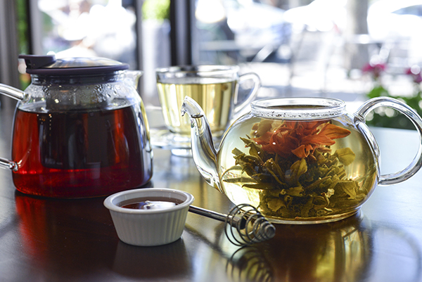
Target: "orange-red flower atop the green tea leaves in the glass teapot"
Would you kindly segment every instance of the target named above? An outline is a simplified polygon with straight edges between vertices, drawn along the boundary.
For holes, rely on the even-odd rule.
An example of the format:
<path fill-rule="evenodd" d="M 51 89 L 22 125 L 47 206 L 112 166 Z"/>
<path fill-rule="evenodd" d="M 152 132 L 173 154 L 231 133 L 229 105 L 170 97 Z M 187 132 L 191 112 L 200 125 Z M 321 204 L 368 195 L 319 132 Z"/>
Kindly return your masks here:
<path fill-rule="evenodd" d="M 268 127 L 268 124 L 265 124 Z M 260 124 L 255 124 L 259 132 Z M 343 138 L 350 131 L 327 121 L 299 122 L 285 121 L 278 127 L 257 136 L 253 141 L 268 153 L 276 153 L 288 158 L 292 154 L 298 158 L 307 158 L 316 148 L 335 144 L 334 139 Z"/>

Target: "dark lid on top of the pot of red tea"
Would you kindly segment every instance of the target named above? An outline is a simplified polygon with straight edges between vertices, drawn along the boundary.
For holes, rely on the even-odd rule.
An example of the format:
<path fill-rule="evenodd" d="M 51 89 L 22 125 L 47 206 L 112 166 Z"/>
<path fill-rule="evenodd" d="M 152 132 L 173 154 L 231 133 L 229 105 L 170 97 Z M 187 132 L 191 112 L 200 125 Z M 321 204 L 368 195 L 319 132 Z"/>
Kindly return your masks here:
<path fill-rule="evenodd" d="M 30 75 L 98 75 L 127 70 L 129 65 L 108 58 L 59 58 L 54 55 L 20 55 Z"/>

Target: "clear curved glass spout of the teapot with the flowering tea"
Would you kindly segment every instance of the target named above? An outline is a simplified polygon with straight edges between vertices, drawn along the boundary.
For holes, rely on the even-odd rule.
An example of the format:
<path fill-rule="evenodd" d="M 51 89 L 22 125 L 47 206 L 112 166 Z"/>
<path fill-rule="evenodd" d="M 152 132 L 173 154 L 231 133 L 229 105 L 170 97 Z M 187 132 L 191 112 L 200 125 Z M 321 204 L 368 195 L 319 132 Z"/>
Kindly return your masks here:
<path fill-rule="evenodd" d="M 191 119 L 193 161 L 207 184 L 224 193 L 217 172 L 217 150 L 215 150 L 214 141 L 212 141 L 210 124 L 208 124 L 205 113 L 200 105 L 188 96 L 184 98 L 183 105 L 181 105 L 181 115 L 186 113 Z"/>

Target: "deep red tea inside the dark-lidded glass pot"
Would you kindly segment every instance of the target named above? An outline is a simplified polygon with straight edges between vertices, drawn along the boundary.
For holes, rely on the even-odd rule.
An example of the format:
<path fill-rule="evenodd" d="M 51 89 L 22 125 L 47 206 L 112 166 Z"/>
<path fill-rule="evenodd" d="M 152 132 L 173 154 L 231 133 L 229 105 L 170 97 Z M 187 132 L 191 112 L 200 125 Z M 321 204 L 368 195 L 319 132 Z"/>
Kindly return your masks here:
<path fill-rule="evenodd" d="M 105 196 L 146 184 L 152 155 L 141 113 L 116 110 L 37 113 L 17 109 L 12 160 L 16 188 L 32 195 Z"/>

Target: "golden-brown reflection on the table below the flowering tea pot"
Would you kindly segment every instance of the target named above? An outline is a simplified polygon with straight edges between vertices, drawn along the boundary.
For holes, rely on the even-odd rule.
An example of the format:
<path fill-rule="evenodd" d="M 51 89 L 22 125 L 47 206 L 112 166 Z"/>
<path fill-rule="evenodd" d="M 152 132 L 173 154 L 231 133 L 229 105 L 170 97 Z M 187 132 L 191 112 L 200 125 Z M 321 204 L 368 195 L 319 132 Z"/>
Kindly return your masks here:
<path fill-rule="evenodd" d="M 233 281 L 360 281 L 373 257 L 369 221 L 277 225 L 267 243 L 241 248 L 227 262 Z"/>

